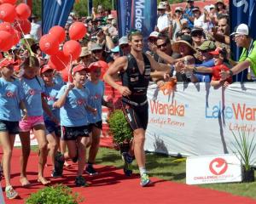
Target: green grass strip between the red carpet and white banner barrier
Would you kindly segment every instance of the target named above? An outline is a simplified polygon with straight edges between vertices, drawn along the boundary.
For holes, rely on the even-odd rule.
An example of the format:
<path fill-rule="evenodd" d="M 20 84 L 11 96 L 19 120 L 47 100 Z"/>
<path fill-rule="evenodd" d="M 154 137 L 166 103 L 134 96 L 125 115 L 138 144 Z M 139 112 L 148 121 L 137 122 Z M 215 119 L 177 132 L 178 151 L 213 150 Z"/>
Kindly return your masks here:
<path fill-rule="evenodd" d="M 148 153 L 146 166 L 150 176 L 171 180 L 177 183 L 186 182 L 186 162 L 172 156 Z M 101 148 L 96 158 L 96 163 L 123 167 L 119 151 Z M 136 162 L 133 164 L 135 173 L 138 173 Z M 221 190 L 233 195 L 247 196 L 256 199 L 256 182 L 232 184 L 202 184 L 203 188 Z"/>

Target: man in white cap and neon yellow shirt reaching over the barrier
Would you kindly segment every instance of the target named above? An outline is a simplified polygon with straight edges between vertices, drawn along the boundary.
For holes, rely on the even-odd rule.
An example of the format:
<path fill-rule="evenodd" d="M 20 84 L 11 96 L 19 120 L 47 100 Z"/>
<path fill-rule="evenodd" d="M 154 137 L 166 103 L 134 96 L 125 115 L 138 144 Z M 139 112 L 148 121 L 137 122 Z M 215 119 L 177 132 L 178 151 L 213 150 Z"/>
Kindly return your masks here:
<path fill-rule="evenodd" d="M 243 48 L 240 59 L 230 71 L 221 71 L 222 80 L 233 77 L 235 82 L 255 82 L 256 81 L 256 41 L 250 37 L 249 27 L 246 24 L 240 24 L 236 31 L 231 34 L 238 48 Z"/>

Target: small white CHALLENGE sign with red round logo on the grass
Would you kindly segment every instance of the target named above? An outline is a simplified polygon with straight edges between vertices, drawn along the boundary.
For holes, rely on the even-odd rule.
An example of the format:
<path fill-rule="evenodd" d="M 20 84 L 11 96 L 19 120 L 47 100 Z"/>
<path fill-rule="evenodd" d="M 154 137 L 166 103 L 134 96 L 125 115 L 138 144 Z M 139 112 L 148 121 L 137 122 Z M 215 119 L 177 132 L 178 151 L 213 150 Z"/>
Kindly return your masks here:
<path fill-rule="evenodd" d="M 189 156 L 186 184 L 241 182 L 241 159 L 236 155 Z"/>

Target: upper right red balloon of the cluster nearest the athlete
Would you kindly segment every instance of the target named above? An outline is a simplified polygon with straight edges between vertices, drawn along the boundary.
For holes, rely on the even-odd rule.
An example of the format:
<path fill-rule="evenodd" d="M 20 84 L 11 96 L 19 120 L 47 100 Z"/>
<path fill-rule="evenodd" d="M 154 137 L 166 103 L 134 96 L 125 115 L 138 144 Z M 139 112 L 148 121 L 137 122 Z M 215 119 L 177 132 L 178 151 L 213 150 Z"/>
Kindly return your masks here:
<path fill-rule="evenodd" d="M 82 22 L 74 22 L 70 27 L 69 27 L 69 37 L 72 40 L 80 40 L 82 39 L 87 30 L 86 27 Z"/>

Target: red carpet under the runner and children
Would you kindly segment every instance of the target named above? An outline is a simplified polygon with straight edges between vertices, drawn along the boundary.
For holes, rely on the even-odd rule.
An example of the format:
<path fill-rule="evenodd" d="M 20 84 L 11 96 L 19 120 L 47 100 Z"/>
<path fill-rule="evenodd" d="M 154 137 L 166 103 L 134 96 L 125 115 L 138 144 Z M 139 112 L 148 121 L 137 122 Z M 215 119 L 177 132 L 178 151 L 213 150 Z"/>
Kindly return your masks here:
<path fill-rule="evenodd" d="M 15 149 L 12 161 L 12 184 L 20 194 L 19 200 L 7 201 L 8 204 L 25 203 L 25 199 L 32 192 L 43 188 L 37 183 L 38 156 L 32 153 L 28 165 L 28 178 L 33 183 L 29 188 L 20 187 L 19 182 L 19 155 L 20 150 Z M 202 189 L 197 186 L 177 184 L 159 178 L 152 178 L 154 185 L 148 188 L 139 186 L 137 175 L 127 178 L 122 170 L 115 167 L 96 167 L 100 172 L 95 177 L 85 175 L 90 187 L 74 187 L 73 180 L 76 174 L 76 165 L 64 171 L 64 178 L 52 178 L 52 183 L 63 183 L 79 192 L 85 200 L 83 203 L 168 203 L 168 204 L 256 204 L 256 200 L 235 196 L 217 190 Z M 50 176 L 50 167 L 46 167 L 46 177 Z M 4 181 L 2 182 L 4 184 Z"/>

